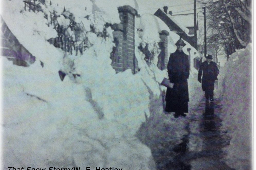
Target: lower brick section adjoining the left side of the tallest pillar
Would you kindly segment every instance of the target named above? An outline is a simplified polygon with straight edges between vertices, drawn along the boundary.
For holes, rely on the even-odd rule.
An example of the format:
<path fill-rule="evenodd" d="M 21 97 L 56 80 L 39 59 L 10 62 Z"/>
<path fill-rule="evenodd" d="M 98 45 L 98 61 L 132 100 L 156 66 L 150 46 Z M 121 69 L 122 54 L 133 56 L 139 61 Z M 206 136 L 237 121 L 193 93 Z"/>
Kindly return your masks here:
<path fill-rule="evenodd" d="M 113 47 L 111 53 L 112 63 L 111 66 L 116 70 L 116 73 L 123 71 L 123 25 L 122 24 L 113 24 L 111 28 L 114 30 L 113 37 L 116 47 Z"/>

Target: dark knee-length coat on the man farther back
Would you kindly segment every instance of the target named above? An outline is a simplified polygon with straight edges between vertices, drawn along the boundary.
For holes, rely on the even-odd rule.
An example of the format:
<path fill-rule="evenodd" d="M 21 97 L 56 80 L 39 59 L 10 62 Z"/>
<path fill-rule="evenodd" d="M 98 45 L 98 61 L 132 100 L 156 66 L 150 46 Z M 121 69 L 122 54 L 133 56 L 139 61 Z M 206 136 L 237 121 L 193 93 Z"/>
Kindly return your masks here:
<path fill-rule="evenodd" d="M 202 77 L 203 72 L 203 78 Z M 209 64 L 207 61 L 204 61 L 198 71 L 198 81 L 202 81 L 202 89 L 206 90 L 214 90 L 214 81 L 218 80 L 217 76 L 219 74 L 219 69 L 217 64 L 211 61 Z"/>

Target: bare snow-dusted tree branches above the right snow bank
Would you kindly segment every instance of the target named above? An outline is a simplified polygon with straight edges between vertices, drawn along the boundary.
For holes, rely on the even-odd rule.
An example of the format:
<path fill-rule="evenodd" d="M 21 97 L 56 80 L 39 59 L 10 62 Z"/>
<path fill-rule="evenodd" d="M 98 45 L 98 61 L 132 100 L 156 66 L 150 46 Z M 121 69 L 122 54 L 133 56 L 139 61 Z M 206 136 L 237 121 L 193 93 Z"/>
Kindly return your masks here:
<path fill-rule="evenodd" d="M 207 8 L 208 43 L 223 46 L 227 60 L 251 41 L 251 0 L 200 0 Z"/>

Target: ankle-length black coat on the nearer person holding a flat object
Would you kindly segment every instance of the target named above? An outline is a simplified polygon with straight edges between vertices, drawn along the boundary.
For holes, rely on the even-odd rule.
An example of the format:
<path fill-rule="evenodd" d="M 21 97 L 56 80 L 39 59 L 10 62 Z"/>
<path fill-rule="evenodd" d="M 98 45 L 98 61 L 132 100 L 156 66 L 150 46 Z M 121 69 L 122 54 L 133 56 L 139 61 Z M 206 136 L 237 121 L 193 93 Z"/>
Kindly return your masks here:
<path fill-rule="evenodd" d="M 189 78 L 189 59 L 183 51 L 171 53 L 168 61 L 168 76 L 173 88 L 167 88 L 166 107 L 167 112 L 188 112 L 189 90 L 187 79 Z"/>

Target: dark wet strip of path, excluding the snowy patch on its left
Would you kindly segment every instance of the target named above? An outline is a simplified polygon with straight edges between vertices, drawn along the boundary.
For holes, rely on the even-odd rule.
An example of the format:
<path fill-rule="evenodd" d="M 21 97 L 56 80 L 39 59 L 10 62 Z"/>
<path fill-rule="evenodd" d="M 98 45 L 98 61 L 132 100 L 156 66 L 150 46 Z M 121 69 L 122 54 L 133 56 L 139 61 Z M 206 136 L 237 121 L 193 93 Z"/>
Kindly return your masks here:
<path fill-rule="evenodd" d="M 222 129 L 222 106 L 220 101 L 206 103 L 202 99 L 190 111 L 182 142 L 175 147 L 166 145 L 152 152 L 157 169 L 161 170 L 232 170 L 222 161 L 222 149 L 229 145 L 230 138 Z M 173 115 L 170 115 L 173 117 Z M 182 119 L 181 119 L 182 120 Z M 167 130 L 168 129 L 167 127 Z"/>

